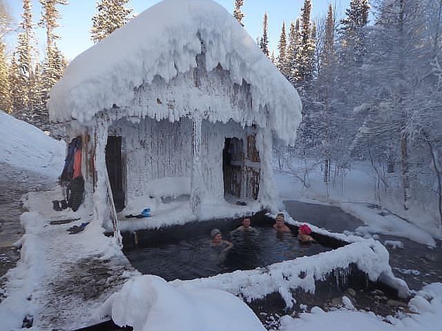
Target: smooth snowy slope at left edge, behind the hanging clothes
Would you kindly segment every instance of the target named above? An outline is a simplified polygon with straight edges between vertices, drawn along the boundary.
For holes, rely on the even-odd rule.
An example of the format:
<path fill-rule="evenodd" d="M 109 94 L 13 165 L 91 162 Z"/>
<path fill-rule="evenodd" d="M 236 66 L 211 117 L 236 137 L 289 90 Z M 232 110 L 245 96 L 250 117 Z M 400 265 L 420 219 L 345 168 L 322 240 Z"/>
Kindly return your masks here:
<path fill-rule="evenodd" d="M 66 143 L 0 110 L 1 162 L 55 177 L 63 170 Z"/>

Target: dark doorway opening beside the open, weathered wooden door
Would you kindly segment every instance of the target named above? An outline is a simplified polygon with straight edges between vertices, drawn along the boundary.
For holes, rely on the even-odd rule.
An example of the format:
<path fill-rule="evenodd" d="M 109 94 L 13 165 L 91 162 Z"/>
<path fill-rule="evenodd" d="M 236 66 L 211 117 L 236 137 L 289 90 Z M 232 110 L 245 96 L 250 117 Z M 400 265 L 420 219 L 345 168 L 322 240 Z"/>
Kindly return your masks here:
<path fill-rule="evenodd" d="M 224 194 L 241 197 L 242 165 L 244 150 L 242 139 L 226 138 L 222 150 L 222 173 L 224 179 Z"/>

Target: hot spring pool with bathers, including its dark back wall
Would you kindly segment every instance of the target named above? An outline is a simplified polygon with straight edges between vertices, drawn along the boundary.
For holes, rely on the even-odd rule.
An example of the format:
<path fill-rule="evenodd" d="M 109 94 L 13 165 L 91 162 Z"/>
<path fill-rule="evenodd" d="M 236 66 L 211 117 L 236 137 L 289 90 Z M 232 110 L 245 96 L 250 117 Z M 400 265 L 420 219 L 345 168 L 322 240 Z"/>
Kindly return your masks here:
<path fill-rule="evenodd" d="M 135 235 L 126 233 L 124 254 L 143 274 L 155 274 L 172 281 L 265 267 L 333 248 L 320 243 L 300 243 L 295 227 L 292 233 L 278 233 L 272 228 L 273 219 L 268 217 L 253 217 L 252 226 L 258 230 L 256 235 L 231 232 L 239 225 L 240 220 L 222 220 L 144 230 L 137 232 L 136 244 Z M 227 254 L 211 247 L 213 228 L 219 228 L 223 239 L 233 243 Z"/>

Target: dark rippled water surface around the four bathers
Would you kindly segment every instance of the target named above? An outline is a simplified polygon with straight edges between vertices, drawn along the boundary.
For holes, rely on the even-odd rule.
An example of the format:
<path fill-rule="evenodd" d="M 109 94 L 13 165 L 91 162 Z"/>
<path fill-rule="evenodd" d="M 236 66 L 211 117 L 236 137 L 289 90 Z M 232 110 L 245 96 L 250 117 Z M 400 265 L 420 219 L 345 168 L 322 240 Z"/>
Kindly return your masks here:
<path fill-rule="evenodd" d="M 258 230 L 256 235 L 224 232 L 223 239 L 233 242 L 227 254 L 211 247 L 206 231 L 171 242 L 144 243 L 125 250 L 125 254 L 140 272 L 171 281 L 249 270 L 331 249 L 318 243 L 300 243 L 294 234 L 278 233 L 271 225 L 254 227 Z"/>

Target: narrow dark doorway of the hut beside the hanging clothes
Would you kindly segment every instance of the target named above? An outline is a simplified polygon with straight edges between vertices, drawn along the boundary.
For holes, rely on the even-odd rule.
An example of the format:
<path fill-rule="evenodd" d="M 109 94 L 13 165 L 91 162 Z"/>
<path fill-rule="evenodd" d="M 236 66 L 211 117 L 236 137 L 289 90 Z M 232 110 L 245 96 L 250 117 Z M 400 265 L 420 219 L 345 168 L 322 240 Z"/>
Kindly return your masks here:
<path fill-rule="evenodd" d="M 122 137 L 108 137 L 106 167 L 111 183 L 115 210 L 121 212 L 124 208 Z"/>

